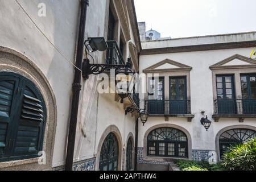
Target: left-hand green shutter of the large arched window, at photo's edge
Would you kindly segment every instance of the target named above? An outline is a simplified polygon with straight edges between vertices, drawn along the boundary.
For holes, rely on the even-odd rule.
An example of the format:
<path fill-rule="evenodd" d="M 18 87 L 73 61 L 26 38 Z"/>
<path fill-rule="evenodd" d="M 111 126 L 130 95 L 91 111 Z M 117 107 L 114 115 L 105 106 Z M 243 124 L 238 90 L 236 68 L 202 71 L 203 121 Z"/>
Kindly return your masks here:
<path fill-rule="evenodd" d="M 9 126 L 13 119 L 13 102 L 15 90 L 18 87 L 18 79 L 2 76 L 0 78 L 0 157 L 9 155 Z"/>

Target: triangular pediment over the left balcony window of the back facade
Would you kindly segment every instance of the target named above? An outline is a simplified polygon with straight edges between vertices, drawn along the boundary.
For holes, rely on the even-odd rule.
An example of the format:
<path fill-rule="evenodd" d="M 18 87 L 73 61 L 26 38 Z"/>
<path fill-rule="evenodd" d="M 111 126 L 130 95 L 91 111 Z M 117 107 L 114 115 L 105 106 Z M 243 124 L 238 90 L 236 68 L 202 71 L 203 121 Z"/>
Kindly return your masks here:
<path fill-rule="evenodd" d="M 192 67 L 166 59 L 143 70 L 144 73 L 191 71 Z"/>

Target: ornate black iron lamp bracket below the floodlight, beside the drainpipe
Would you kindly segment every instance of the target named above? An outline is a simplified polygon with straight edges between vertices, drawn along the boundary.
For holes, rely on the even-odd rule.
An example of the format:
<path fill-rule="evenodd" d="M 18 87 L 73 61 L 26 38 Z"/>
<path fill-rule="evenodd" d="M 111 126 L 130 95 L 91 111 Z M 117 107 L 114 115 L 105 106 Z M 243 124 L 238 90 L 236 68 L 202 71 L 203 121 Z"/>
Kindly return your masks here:
<path fill-rule="evenodd" d="M 123 64 L 90 64 L 89 59 L 85 59 L 82 63 L 82 77 L 84 80 L 88 80 L 89 75 L 99 75 L 105 73 L 107 70 L 114 69 L 115 73 L 123 73 L 125 75 L 135 74 L 134 72 L 120 72 L 120 69 L 127 68 L 127 65 Z"/>

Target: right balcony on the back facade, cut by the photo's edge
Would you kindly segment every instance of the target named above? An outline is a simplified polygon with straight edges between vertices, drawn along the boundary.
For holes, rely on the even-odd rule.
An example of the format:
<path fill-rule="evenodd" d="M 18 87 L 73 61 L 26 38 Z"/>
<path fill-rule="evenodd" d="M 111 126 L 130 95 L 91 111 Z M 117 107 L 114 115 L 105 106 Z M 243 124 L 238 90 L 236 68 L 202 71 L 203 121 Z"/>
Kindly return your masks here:
<path fill-rule="evenodd" d="M 218 122 L 219 118 L 239 118 L 243 122 L 244 118 L 256 117 L 256 100 L 215 100 L 213 118 Z"/>

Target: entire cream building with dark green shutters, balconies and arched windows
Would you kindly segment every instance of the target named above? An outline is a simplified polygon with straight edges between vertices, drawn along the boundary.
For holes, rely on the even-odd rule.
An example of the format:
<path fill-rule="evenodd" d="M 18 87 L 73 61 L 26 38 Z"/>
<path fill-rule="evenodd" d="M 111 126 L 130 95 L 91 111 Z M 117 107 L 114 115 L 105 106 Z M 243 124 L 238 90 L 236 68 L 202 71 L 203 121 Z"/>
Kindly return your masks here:
<path fill-rule="evenodd" d="M 79 33 L 81 2 L 0 0 L 0 170 L 64 169 L 81 33 L 107 40 L 106 51 L 85 51 L 90 64 L 158 75 L 123 100 L 98 93 L 102 75 L 81 79 L 73 170 L 217 161 L 228 144 L 256 137 L 256 32 L 141 43 L 133 0 L 95 0 Z M 148 112 L 144 126 L 128 108 Z"/>

